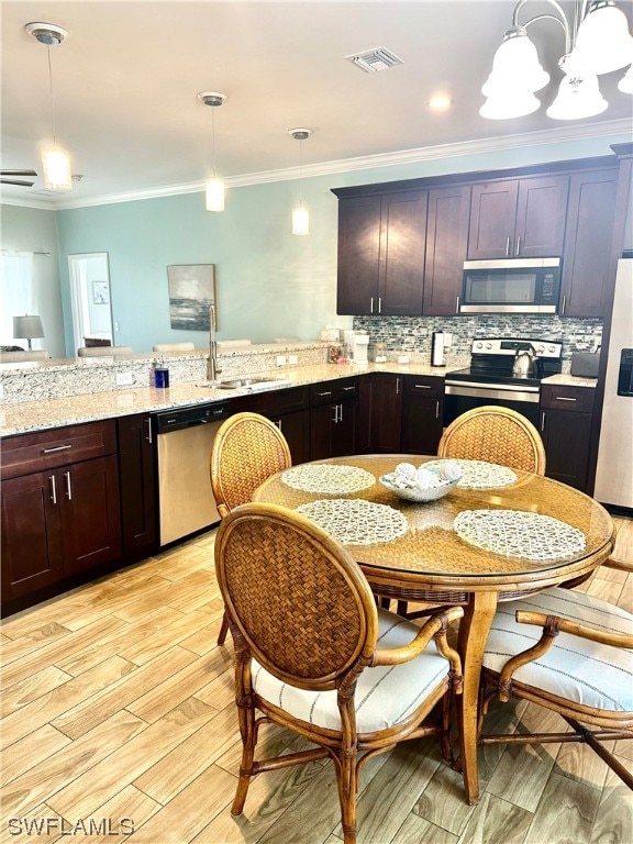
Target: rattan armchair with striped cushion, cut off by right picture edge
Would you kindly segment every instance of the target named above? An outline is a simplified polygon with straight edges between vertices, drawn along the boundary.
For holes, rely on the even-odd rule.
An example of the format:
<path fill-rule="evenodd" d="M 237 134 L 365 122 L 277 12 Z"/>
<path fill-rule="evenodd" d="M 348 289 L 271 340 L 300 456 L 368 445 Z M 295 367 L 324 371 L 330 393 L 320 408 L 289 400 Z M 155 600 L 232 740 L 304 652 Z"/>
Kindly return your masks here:
<path fill-rule="evenodd" d="M 633 571 L 631 564 L 609 563 Z M 629 767 L 603 744 L 633 738 L 632 649 L 633 615 L 591 595 L 555 588 L 500 604 L 484 655 L 480 744 L 581 742 L 633 789 Z M 495 698 L 538 703 L 571 732 L 482 735 Z"/>

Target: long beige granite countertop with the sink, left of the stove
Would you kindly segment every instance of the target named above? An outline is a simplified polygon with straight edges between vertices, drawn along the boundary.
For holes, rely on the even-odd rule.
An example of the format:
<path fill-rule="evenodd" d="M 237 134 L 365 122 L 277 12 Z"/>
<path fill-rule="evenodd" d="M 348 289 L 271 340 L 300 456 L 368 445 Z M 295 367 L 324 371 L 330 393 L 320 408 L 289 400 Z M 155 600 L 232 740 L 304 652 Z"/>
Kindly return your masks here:
<path fill-rule="evenodd" d="M 463 364 L 462 364 L 463 366 Z M 446 373 L 460 366 L 434 367 L 430 364 L 319 364 L 315 366 L 280 367 L 257 373 L 257 377 L 270 377 L 287 381 L 284 387 L 300 387 L 319 381 L 346 378 L 364 373 L 393 373 L 399 375 L 426 375 L 443 378 Z M 278 389 L 271 387 L 270 389 Z M 222 390 L 206 387 L 202 381 L 173 384 L 168 389 L 143 387 L 130 390 L 111 390 L 81 396 L 69 396 L 47 401 L 29 401 L 5 404 L 0 410 L 0 436 L 11 436 L 33 431 L 44 431 L 63 425 L 95 422 L 115 417 L 147 413 L 170 408 L 226 401 L 247 396 L 251 390 Z"/>

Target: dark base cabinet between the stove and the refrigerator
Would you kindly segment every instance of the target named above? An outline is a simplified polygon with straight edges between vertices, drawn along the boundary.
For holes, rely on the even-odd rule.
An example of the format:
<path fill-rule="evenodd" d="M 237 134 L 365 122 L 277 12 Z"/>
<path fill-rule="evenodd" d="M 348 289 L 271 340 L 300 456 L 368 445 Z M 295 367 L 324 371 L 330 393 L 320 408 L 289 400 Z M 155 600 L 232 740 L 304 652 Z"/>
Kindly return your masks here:
<path fill-rule="evenodd" d="M 593 410 L 592 387 L 543 385 L 540 430 L 546 455 L 545 474 L 587 491 Z"/>

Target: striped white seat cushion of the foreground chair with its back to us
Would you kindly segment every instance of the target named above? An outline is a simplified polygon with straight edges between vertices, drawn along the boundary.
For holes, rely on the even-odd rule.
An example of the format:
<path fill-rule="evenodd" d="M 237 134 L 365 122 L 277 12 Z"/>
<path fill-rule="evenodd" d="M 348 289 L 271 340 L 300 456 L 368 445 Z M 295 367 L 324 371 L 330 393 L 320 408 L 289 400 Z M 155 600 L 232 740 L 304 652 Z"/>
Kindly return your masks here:
<path fill-rule="evenodd" d="M 378 647 L 401 647 L 420 628 L 387 610 L 378 610 Z M 431 642 L 409 663 L 366 668 L 356 684 L 356 729 L 371 733 L 402 723 L 442 682 L 449 663 Z M 253 686 L 257 695 L 295 718 L 330 730 L 341 730 L 336 691 L 307 691 L 281 682 L 255 659 Z"/>

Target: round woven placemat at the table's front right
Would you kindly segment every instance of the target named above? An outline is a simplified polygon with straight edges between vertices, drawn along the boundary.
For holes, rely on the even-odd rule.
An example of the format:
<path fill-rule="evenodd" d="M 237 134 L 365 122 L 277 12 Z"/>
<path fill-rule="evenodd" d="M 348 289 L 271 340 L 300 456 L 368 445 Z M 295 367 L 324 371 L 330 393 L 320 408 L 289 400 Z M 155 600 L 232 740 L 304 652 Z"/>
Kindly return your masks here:
<path fill-rule="evenodd" d="M 478 548 L 524 559 L 560 559 L 585 548 L 581 531 L 551 515 L 520 510 L 464 510 L 455 532 Z"/>

